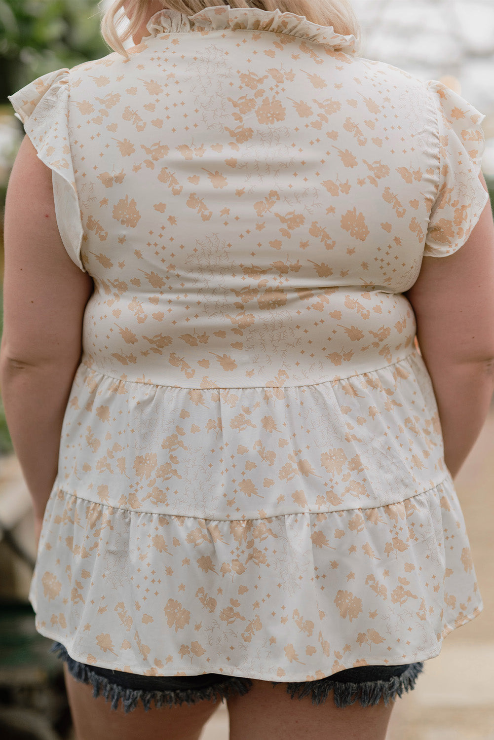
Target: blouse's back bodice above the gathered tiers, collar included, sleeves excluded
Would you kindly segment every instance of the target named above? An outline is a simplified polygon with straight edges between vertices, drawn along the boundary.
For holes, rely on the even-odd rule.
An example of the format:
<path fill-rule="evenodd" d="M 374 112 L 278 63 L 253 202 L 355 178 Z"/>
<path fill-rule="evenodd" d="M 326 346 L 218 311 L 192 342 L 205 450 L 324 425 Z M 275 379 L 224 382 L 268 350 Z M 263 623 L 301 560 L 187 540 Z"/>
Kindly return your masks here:
<path fill-rule="evenodd" d="M 151 383 L 297 385 L 410 352 L 401 294 L 440 181 L 432 95 L 296 19 L 167 10 L 129 59 L 71 71 L 88 363 Z"/>

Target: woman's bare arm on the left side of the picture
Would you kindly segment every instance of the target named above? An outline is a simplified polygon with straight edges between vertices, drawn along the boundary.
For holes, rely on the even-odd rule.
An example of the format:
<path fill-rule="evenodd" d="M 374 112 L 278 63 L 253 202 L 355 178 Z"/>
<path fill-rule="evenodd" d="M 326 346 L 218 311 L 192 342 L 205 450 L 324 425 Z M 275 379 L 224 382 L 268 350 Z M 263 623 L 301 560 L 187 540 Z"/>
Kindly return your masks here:
<path fill-rule="evenodd" d="M 39 532 L 57 474 L 61 425 L 93 280 L 64 249 L 52 172 L 27 136 L 10 175 L 4 235 L 0 387 Z"/>

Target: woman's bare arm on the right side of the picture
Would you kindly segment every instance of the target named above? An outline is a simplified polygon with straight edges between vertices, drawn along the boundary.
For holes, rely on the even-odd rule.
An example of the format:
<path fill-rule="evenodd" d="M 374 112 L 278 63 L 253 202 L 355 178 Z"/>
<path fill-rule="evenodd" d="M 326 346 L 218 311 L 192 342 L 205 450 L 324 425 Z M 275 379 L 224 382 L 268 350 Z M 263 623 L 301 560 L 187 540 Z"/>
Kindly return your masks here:
<path fill-rule="evenodd" d="M 487 190 L 484 178 L 481 182 Z M 455 477 L 481 431 L 494 391 L 494 224 L 490 203 L 467 242 L 448 257 L 424 257 L 404 295 L 433 382 L 444 460 Z"/>

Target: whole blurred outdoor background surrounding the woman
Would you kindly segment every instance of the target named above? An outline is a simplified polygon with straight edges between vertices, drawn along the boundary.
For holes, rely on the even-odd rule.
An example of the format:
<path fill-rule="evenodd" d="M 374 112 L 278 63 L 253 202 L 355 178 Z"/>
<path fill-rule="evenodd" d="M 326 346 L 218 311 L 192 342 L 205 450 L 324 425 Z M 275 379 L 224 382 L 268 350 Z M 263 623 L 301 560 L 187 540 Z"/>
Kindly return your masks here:
<path fill-rule="evenodd" d="M 436 79 L 486 115 L 482 169 L 494 202 L 494 0 L 353 0 L 361 54 Z M 3 211 L 23 130 L 7 95 L 47 72 L 99 58 L 96 0 L 0 0 L 0 277 Z M 0 336 L 1 336 L 0 290 Z M 0 388 L 1 393 L 1 388 Z M 398 699 L 387 740 L 494 740 L 494 582 L 491 511 L 494 416 L 457 479 L 484 612 L 455 630 L 410 694 Z M 0 400 L 0 737 L 73 738 L 61 667 L 36 633 L 27 602 L 36 551 L 30 498 Z M 201 740 L 227 739 L 224 705 Z"/>

